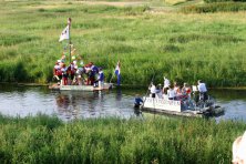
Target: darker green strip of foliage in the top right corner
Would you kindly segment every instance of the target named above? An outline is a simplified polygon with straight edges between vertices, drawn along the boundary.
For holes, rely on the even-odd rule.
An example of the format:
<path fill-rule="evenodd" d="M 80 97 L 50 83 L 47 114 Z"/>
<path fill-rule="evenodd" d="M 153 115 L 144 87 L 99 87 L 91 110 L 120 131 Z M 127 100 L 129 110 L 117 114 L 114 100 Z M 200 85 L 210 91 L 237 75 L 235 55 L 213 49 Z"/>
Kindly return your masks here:
<path fill-rule="evenodd" d="M 213 2 L 202 6 L 187 6 L 181 9 L 184 13 L 235 12 L 245 10 L 246 3 L 244 2 Z"/>

